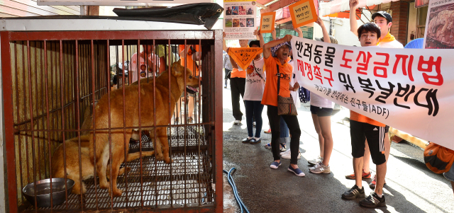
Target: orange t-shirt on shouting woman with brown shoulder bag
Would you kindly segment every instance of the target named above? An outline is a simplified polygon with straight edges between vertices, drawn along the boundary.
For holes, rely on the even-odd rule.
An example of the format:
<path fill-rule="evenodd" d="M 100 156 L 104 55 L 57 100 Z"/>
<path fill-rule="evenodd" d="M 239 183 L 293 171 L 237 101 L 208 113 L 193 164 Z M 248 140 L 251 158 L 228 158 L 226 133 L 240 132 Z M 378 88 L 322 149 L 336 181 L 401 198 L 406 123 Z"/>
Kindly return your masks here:
<path fill-rule="evenodd" d="M 284 75 L 284 78 L 281 78 L 279 96 L 290 97 L 289 86 L 293 67 L 287 62 L 285 62 L 285 64 L 281 64 L 279 59 L 270 56 L 265 59 L 265 66 L 267 67 L 267 83 L 265 84 L 265 91 L 263 91 L 262 105 L 277 106 L 276 65 L 279 66 L 281 76 Z"/>

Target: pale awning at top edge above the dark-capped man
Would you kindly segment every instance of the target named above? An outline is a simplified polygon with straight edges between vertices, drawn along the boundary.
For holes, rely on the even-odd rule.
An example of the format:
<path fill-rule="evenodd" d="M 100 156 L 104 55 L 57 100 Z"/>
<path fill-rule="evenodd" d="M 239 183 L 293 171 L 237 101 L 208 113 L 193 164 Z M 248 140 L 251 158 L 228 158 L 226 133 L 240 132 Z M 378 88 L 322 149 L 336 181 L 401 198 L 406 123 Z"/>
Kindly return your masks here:
<path fill-rule="evenodd" d="M 363 8 L 365 6 L 372 6 L 378 4 L 385 4 L 391 1 L 399 0 L 360 0 L 358 8 Z M 334 0 L 330 2 L 320 2 L 320 16 L 326 16 L 333 13 L 343 12 L 350 10 L 348 6 L 349 0 Z"/>

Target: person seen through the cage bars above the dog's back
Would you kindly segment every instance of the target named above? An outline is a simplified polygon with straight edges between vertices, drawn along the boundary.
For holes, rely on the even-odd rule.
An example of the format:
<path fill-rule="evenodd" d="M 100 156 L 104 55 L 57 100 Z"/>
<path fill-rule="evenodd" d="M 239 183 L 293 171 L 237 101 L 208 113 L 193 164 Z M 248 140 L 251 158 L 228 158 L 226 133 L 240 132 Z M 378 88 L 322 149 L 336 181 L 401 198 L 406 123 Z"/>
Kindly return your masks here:
<path fill-rule="evenodd" d="M 155 62 L 157 61 L 156 55 L 153 53 L 155 48 L 153 45 L 142 45 L 144 51 L 140 51 L 139 55 L 137 52 L 131 56 L 131 74 L 133 75 L 132 82 L 135 82 L 139 79 L 148 78 L 149 76 L 154 76 L 155 74 Z M 145 62 L 145 58 L 147 58 L 147 62 Z M 139 62 L 137 62 L 139 59 Z M 159 64 L 159 62 L 158 62 Z M 139 67 L 140 72 L 137 73 L 137 67 Z M 159 67 L 159 65 L 157 66 Z"/>

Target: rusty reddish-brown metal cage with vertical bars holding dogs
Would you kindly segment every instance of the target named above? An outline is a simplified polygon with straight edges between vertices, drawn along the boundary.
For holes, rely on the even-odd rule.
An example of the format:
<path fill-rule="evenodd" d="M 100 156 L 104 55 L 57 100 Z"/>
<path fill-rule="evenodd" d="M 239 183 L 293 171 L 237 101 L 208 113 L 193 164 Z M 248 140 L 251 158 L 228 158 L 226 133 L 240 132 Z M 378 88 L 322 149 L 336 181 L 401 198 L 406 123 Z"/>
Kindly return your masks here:
<path fill-rule="evenodd" d="M 221 82 L 222 78 L 221 30 L 2 31 L 0 35 L 9 212 L 223 210 L 222 91 L 221 84 L 215 83 Z M 67 193 L 62 205 L 38 207 L 36 203 L 29 204 L 22 188 L 28 183 L 52 178 L 50 159 L 57 146 L 65 144 L 67 139 L 80 141 L 82 134 L 96 130 L 94 127 L 83 129 L 84 119 L 87 115 L 92 116 L 97 100 L 103 96 L 110 98 L 112 91 L 122 90 L 126 87 L 123 85 L 132 82 L 131 66 L 127 69 L 122 66 L 142 45 L 155 47 L 155 59 L 160 60 L 158 55 L 161 55 L 166 65 L 156 61 L 148 64 L 153 69 L 147 74 L 150 76 L 159 76 L 162 70 L 170 71 L 172 62 L 179 57 L 175 53 L 179 45 L 199 47 L 200 58 L 194 65 L 199 68 L 199 79 L 203 80 L 200 80 L 199 93 L 192 96 L 194 122 L 190 123 L 187 117 L 179 123 L 174 122 L 175 117 L 188 114 L 191 96 L 184 92 L 177 104 L 180 111 L 169 109 L 174 113 L 167 117 L 169 124 L 164 126 L 173 163 L 156 161 L 155 156 L 124 162 L 122 165 L 131 171 L 118 175 L 118 188 L 123 189 L 121 197 L 113 197 L 108 190 L 99 188 L 99 178 L 95 176 L 84 180 L 87 186 L 84 195 Z M 184 49 L 186 54 L 188 48 Z M 157 53 L 159 50 L 164 50 L 164 54 Z M 123 64 L 118 65 L 118 62 Z M 187 66 L 189 64 L 184 63 L 184 67 Z M 111 67 L 115 67 L 114 71 Z M 117 78 L 116 84 L 111 83 L 112 78 Z M 155 81 L 151 79 L 148 84 L 155 84 Z M 123 105 L 125 101 L 128 100 L 123 92 Z M 140 105 L 140 98 L 138 103 Z M 155 106 L 158 108 L 159 103 Z M 109 102 L 109 112 L 110 108 Z M 156 113 L 154 115 L 156 117 Z M 125 116 L 111 117 L 111 120 Z M 140 120 L 140 113 L 138 116 Z M 141 137 L 138 143 L 129 143 L 129 153 L 143 153 L 153 150 L 155 142 L 153 137 L 150 139 L 144 134 L 142 129 L 145 128 L 139 123 L 134 127 L 109 129 L 109 135 L 113 130 L 138 129 Z M 125 138 L 125 144 L 129 141 Z M 80 149 L 79 142 L 79 157 Z M 63 160 L 67 163 L 65 158 Z M 83 169 L 80 161 L 79 166 Z M 65 173 L 66 169 L 65 164 Z M 96 175 L 96 166 L 94 171 Z"/>

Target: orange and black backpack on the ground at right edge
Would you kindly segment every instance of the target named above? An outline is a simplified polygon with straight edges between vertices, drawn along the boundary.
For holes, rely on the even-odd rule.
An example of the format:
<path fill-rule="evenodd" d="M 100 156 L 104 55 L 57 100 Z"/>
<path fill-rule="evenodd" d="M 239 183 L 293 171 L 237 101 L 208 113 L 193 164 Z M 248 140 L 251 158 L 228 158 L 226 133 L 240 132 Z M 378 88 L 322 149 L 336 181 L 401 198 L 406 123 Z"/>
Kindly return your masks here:
<path fill-rule="evenodd" d="M 434 173 L 445 173 L 454 162 L 454 151 L 430 142 L 424 149 L 424 163 Z"/>

